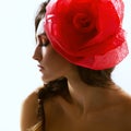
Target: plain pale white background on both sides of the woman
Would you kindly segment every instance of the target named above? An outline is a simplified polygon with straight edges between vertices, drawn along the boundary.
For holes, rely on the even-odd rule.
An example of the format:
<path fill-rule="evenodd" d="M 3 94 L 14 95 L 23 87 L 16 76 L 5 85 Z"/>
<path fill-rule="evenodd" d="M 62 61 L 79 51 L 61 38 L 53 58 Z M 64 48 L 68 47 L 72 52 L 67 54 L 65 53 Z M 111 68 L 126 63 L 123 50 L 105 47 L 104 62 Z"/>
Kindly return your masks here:
<path fill-rule="evenodd" d="M 32 60 L 35 48 L 34 17 L 44 0 L 0 1 L 0 131 L 20 131 L 23 99 L 41 85 Z M 131 0 L 124 0 L 123 26 L 131 50 Z M 114 80 L 131 94 L 131 51 L 116 68 Z"/>

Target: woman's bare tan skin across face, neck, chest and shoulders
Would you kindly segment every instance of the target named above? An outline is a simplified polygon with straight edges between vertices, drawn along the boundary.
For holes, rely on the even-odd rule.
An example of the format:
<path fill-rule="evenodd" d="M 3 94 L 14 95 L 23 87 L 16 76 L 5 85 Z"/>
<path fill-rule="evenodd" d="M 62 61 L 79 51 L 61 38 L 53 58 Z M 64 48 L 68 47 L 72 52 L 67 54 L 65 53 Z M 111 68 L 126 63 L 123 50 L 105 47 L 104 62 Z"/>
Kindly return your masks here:
<path fill-rule="evenodd" d="M 44 46 L 46 35 L 37 36 L 34 59 L 40 64 L 43 81 L 66 76 L 72 103 L 60 96 L 45 102 L 46 131 L 130 131 L 131 97 L 117 85 L 92 87 L 83 83 L 75 66 L 58 55 L 51 44 Z M 24 102 L 21 129 L 37 123 L 37 93 Z"/>

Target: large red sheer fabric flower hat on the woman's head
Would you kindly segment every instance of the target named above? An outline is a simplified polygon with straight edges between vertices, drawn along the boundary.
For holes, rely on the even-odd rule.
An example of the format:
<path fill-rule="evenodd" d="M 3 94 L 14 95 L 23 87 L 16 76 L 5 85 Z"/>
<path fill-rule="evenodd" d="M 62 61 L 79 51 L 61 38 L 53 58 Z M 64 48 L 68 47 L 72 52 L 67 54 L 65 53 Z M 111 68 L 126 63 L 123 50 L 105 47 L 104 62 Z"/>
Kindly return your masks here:
<path fill-rule="evenodd" d="M 45 32 L 70 62 L 103 70 L 128 55 L 122 0 L 51 0 L 46 11 Z"/>

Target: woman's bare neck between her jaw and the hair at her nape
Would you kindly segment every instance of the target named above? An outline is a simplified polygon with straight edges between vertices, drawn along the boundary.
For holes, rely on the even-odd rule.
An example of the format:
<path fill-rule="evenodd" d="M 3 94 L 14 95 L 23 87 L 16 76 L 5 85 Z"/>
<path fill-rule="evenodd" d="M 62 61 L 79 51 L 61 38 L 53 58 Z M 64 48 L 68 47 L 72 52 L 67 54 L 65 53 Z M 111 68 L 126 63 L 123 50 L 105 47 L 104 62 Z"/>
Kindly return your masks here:
<path fill-rule="evenodd" d="M 110 90 L 87 85 L 78 73 L 68 78 L 68 86 L 73 105 L 80 108 L 82 114 L 100 108 L 100 105 L 105 105 L 105 98 L 110 94 Z"/>

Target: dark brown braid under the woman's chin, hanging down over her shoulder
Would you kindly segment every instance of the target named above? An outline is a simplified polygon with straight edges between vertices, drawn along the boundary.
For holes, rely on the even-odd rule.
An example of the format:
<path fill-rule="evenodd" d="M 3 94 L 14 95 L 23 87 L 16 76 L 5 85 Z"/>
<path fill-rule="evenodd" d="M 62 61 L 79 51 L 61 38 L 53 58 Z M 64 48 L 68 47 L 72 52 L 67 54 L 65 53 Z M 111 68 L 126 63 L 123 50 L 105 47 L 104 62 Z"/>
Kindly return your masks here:
<path fill-rule="evenodd" d="M 38 119 L 41 121 L 41 128 L 45 130 L 45 110 L 44 110 L 44 103 L 55 96 L 62 96 L 64 99 L 70 102 L 70 95 L 68 91 L 68 82 L 67 79 L 60 79 L 52 82 L 49 82 L 48 84 L 45 84 L 44 87 L 41 87 L 38 91 Z"/>

